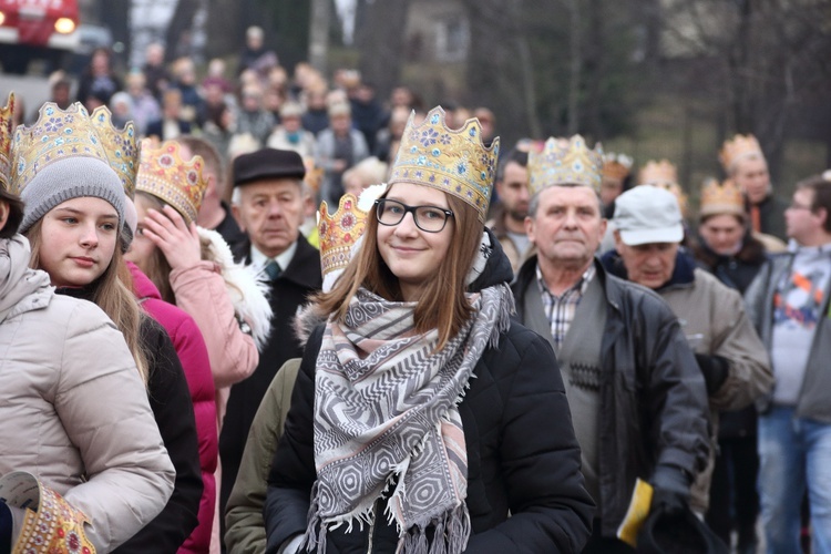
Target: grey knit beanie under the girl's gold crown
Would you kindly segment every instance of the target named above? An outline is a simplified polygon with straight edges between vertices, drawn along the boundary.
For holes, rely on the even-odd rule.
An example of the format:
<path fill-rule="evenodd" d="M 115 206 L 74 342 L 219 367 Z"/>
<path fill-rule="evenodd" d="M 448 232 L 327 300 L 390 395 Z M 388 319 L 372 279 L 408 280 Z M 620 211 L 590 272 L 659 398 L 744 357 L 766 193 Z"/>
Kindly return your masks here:
<path fill-rule="evenodd" d="M 119 232 L 124 225 L 124 187 L 110 165 L 95 157 L 73 156 L 52 162 L 39 171 L 20 193 L 25 204 L 20 233 L 25 233 L 50 209 L 72 198 L 101 198 L 119 213 Z"/>

